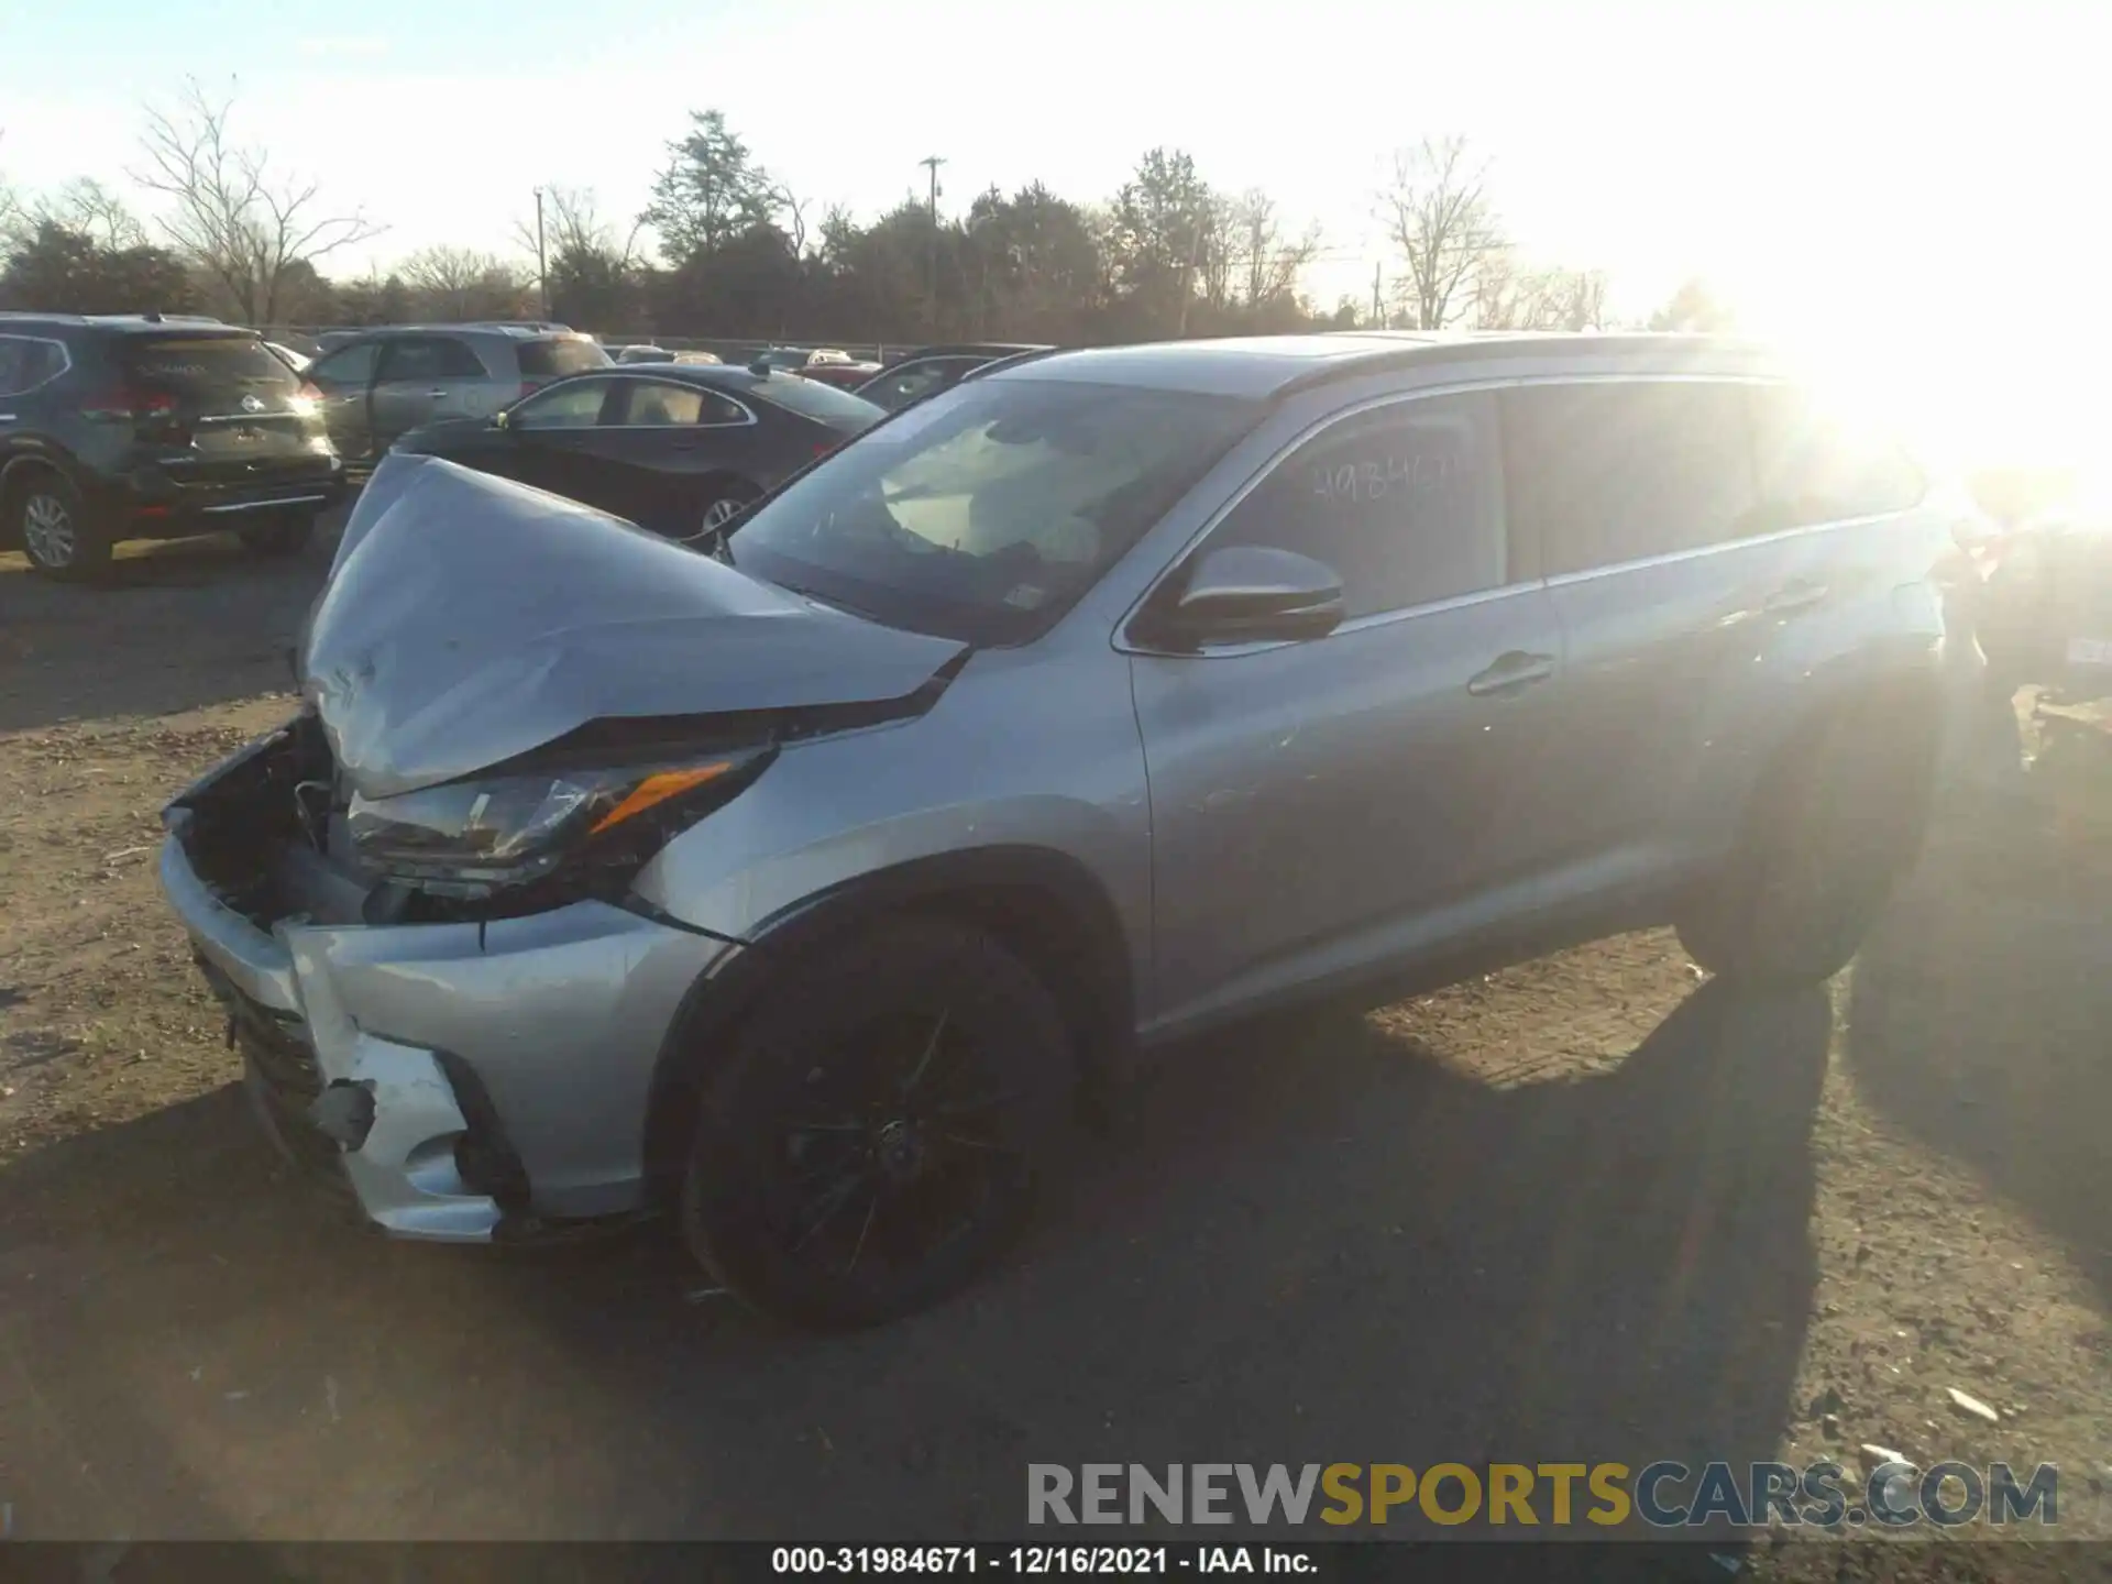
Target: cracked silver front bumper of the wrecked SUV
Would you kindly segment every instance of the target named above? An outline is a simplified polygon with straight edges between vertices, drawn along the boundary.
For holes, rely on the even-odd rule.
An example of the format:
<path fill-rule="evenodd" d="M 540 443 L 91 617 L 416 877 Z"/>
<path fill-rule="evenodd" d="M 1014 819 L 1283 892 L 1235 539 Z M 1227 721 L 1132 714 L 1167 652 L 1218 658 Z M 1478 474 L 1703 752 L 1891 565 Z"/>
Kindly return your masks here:
<path fill-rule="evenodd" d="M 638 1208 L 667 1029 L 739 950 L 602 902 L 488 925 L 264 931 L 199 876 L 182 822 L 161 885 L 228 1005 L 268 1132 L 401 1238 L 486 1242 L 511 1217 Z M 310 1115 L 340 1086 L 372 1096 L 357 1147 Z"/>

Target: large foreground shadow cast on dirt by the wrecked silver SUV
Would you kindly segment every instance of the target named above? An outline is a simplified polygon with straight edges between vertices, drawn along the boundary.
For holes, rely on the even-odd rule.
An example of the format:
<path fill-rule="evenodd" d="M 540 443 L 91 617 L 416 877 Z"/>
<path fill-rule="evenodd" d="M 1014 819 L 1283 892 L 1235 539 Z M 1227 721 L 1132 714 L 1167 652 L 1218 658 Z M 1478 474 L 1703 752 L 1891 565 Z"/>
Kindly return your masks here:
<path fill-rule="evenodd" d="M 1510 1090 L 1373 1022 L 1219 1037 L 1003 1269 L 847 1337 L 708 1295 L 665 1236 L 342 1233 L 228 1090 L 0 1174 L 0 1335 L 65 1453 L 68 1516 L 17 1525 L 957 1540 L 1026 1531 L 1031 1462 L 1770 1457 L 1829 1026 L 1702 986 L 1611 1073 Z"/>

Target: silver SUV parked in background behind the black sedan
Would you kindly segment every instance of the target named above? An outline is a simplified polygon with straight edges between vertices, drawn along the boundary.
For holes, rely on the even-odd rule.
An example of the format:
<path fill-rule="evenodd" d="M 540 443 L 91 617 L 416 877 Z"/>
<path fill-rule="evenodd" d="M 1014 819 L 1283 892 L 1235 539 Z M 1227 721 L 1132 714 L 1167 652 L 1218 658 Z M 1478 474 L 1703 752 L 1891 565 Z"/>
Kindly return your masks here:
<path fill-rule="evenodd" d="M 558 325 L 389 325 L 332 346 L 304 378 L 321 393 L 338 454 L 361 460 L 420 425 L 490 418 L 591 367 L 608 367 L 608 353 Z"/>

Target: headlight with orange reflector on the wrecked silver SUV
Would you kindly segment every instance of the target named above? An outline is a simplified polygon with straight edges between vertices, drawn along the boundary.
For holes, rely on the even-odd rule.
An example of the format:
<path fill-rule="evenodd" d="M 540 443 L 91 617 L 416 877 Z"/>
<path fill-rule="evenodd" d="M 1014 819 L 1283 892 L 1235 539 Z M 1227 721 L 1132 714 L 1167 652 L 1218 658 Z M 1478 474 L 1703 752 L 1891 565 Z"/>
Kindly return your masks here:
<path fill-rule="evenodd" d="M 439 895 L 486 895 L 574 866 L 629 879 L 676 830 L 746 788 L 767 760 L 762 750 L 644 769 L 494 775 L 393 798 L 355 794 L 344 822 L 365 864 Z"/>

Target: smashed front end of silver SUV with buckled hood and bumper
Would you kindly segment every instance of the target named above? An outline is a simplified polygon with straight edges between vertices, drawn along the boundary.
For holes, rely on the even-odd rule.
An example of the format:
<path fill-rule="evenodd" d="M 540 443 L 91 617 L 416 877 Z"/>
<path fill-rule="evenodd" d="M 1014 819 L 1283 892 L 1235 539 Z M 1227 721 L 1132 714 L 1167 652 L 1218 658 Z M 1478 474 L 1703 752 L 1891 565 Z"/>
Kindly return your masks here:
<path fill-rule="evenodd" d="M 963 655 L 391 456 L 302 634 L 300 714 L 163 813 L 272 1140 L 397 1236 L 644 1208 L 663 1043 L 746 942 L 634 881 L 788 743 L 912 718 Z"/>

